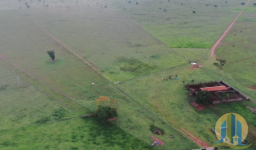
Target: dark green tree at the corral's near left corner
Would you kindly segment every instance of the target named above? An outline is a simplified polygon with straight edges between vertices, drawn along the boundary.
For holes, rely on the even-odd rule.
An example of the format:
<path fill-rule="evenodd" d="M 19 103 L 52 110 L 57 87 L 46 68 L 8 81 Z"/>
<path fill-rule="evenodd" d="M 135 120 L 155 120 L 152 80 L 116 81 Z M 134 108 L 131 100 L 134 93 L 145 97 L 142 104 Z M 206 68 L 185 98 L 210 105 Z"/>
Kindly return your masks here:
<path fill-rule="evenodd" d="M 196 93 L 195 103 L 208 106 L 211 104 L 211 93 L 208 91 L 199 91 Z"/>

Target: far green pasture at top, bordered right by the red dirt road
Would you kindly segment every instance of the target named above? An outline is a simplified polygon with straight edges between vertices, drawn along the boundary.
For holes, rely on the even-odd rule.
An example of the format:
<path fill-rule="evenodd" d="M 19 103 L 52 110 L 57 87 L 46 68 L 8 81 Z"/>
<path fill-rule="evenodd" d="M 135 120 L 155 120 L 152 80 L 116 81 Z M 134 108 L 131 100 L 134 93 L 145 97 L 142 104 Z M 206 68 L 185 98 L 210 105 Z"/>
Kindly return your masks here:
<path fill-rule="evenodd" d="M 137 5 L 136 1 L 111 2 L 120 13 L 169 47 L 210 48 L 244 7 L 241 3 L 247 1 L 144 0 Z"/>

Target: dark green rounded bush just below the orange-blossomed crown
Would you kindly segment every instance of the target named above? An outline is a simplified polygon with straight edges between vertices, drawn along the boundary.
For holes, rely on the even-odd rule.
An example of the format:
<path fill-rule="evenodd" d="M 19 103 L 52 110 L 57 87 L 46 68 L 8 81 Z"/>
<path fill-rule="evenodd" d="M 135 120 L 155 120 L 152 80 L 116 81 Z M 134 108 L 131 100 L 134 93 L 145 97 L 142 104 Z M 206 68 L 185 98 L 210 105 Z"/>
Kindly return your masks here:
<path fill-rule="evenodd" d="M 97 116 L 101 122 L 106 122 L 109 118 L 117 117 L 117 112 L 115 108 L 110 106 L 99 106 Z"/>

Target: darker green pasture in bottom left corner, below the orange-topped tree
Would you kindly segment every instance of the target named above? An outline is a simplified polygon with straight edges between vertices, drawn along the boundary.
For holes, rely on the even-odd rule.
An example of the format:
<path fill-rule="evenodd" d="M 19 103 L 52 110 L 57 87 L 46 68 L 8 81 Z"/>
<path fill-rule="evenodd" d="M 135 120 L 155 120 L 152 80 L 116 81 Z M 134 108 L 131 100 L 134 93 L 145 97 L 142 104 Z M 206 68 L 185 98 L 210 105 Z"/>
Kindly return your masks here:
<path fill-rule="evenodd" d="M 0 149 L 152 149 L 111 123 L 91 118 L 0 132 Z"/>

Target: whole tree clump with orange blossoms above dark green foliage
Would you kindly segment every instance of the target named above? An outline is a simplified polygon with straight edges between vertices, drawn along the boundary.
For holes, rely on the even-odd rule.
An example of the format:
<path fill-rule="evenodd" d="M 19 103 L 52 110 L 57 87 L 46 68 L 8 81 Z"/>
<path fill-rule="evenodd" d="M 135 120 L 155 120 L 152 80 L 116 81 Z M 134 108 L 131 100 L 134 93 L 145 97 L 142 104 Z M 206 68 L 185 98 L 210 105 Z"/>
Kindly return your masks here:
<path fill-rule="evenodd" d="M 101 122 L 106 122 L 109 118 L 117 117 L 117 101 L 111 101 L 106 96 L 101 96 L 99 99 L 96 100 L 96 114 Z"/>

